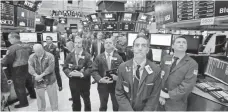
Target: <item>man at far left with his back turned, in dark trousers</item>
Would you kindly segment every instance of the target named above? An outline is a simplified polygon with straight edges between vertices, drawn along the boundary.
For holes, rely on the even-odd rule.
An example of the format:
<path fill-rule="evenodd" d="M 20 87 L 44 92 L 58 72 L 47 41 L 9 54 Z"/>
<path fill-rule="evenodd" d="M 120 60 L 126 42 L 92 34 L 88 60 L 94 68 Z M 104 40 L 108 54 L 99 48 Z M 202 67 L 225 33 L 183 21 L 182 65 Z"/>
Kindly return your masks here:
<path fill-rule="evenodd" d="M 15 105 L 15 108 L 28 106 L 25 86 L 31 98 L 36 98 L 36 93 L 33 87 L 32 77 L 28 73 L 28 59 L 32 53 L 32 49 L 28 44 L 23 44 L 20 41 L 20 36 L 17 33 L 10 33 L 8 39 L 12 46 L 9 47 L 7 55 L 1 63 L 3 65 L 12 65 L 12 80 L 14 89 L 20 104 Z M 27 83 L 27 84 L 26 84 Z"/>

